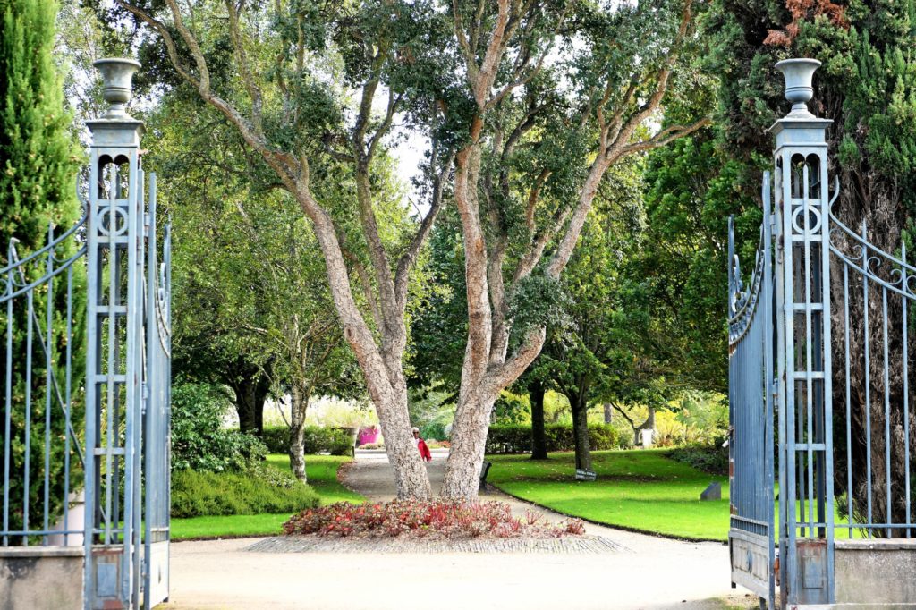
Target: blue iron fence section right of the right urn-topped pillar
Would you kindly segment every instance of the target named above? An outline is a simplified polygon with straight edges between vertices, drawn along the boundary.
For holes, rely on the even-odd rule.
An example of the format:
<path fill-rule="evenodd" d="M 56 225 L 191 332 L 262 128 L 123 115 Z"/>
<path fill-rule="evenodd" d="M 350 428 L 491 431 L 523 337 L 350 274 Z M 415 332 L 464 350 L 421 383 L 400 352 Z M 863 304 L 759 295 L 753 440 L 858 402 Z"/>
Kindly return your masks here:
<path fill-rule="evenodd" d="M 844 369 L 836 374 L 845 384 L 841 398 L 848 422 L 843 528 L 850 538 L 856 530 L 869 538 L 911 538 L 916 521 L 911 489 L 909 315 L 916 300 L 916 267 L 907 263 L 905 244 L 900 245 L 900 256 L 895 256 L 869 243 L 865 221 L 856 232 L 831 213 L 830 227 L 832 261 L 843 274 L 844 315 L 839 323 L 845 338 Z M 863 327 L 850 323 L 851 307 L 862 311 Z M 891 308 L 898 313 L 892 315 Z M 880 314 L 877 333 L 872 330 L 875 312 Z M 899 326 L 892 327 L 893 322 Z M 877 363 L 873 334 L 879 340 Z M 864 379 L 853 378 L 856 363 L 864 363 Z M 856 430 L 856 414 L 865 420 L 864 430 Z M 856 431 L 864 431 L 866 441 L 864 480 L 852 467 Z"/>

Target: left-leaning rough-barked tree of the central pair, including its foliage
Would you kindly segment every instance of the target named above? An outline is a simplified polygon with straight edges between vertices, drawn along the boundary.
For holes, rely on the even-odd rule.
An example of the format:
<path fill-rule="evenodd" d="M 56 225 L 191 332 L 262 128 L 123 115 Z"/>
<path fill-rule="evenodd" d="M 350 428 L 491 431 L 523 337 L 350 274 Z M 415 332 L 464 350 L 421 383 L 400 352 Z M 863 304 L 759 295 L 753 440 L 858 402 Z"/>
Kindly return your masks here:
<path fill-rule="evenodd" d="M 398 496 L 429 496 L 410 435 L 403 354 L 409 282 L 441 207 L 448 146 L 431 134 L 428 212 L 394 245 L 379 226 L 372 169 L 396 116 L 420 131 L 440 121 L 436 93 L 453 74 L 441 14 L 428 2 L 229 1 L 193 11 L 174 0 L 118 4 L 157 34 L 180 81 L 234 125 L 308 218 L 344 339 L 385 434 Z M 333 164 L 354 180 L 348 202 L 327 195 L 337 180 Z"/>

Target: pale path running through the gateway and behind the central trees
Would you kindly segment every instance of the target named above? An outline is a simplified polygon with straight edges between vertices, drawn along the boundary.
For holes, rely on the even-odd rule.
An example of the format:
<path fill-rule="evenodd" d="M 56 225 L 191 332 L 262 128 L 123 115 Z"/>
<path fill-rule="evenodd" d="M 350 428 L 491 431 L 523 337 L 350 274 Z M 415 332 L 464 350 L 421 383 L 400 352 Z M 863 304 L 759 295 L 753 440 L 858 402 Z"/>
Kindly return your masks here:
<path fill-rule="evenodd" d="M 430 464 L 441 485 L 445 456 Z M 372 499 L 393 496 L 384 455 L 357 455 L 345 483 Z M 529 505 L 507 496 L 523 513 Z M 561 519 L 539 509 L 545 517 Z M 165 609 L 605 610 L 753 607 L 728 583 L 727 548 L 599 526 L 588 533 L 625 549 L 604 554 L 253 552 L 264 539 L 172 545 Z"/>

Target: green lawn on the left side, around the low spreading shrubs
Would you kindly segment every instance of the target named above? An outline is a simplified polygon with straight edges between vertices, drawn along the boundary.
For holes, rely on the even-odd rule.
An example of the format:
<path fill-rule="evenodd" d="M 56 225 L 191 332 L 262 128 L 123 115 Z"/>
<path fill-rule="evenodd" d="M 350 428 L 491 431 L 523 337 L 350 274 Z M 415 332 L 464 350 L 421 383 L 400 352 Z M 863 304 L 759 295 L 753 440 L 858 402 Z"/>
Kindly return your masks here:
<path fill-rule="evenodd" d="M 322 505 L 334 502 L 364 502 L 365 498 L 337 482 L 337 469 L 349 457 L 336 455 L 307 455 L 306 474 L 309 485 L 318 493 Z M 271 454 L 267 463 L 277 468 L 289 469 L 289 456 Z M 171 539 L 221 538 L 231 536 L 263 536 L 277 534 L 288 514 L 281 515 L 228 515 L 220 517 L 173 518 Z"/>

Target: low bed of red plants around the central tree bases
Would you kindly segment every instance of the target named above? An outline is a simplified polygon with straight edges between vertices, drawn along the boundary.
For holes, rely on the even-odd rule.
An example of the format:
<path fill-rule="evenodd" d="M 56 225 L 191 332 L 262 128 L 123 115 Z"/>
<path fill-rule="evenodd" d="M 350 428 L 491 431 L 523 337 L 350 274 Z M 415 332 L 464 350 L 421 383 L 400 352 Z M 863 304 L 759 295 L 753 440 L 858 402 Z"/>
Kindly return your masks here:
<path fill-rule="evenodd" d="M 338 502 L 309 508 L 283 524 L 287 536 L 358 536 L 361 538 L 537 538 L 578 536 L 585 531 L 582 520 L 567 519 L 556 525 L 540 523 L 532 513 L 525 519 L 512 517 L 502 502 L 394 501 L 354 505 Z"/>

